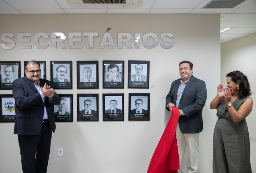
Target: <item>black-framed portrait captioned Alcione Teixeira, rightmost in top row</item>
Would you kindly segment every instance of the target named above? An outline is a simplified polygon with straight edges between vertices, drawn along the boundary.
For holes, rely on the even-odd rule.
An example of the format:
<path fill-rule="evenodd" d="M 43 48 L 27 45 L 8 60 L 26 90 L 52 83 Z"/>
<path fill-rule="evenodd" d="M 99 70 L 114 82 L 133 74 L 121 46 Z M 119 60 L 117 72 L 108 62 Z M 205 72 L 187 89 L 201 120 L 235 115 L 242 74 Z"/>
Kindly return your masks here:
<path fill-rule="evenodd" d="M 149 88 L 149 61 L 128 61 L 128 88 Z"/>

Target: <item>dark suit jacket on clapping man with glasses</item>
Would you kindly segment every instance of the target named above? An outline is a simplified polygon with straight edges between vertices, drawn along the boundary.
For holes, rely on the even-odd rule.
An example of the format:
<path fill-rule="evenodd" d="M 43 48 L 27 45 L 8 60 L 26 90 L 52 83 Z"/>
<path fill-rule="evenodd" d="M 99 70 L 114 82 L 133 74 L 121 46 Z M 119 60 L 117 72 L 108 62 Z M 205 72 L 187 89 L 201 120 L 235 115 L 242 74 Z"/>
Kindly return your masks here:
<path fill-rule="evenodd" d="M 50 81 L 40 79 L 41 87 L 45 83 L 52 87 Z M 25 76 L 13 82 L 13 97 L 16 104 L 14 134 L 38 135 L 42 126 L 44 106 L 46 107 L 51 130 L 55 132 L 56 125 L 53 104 L 59 104 L 61 102 L 61 98 L 57 93 L 51 99 L 45 97 L 45 103 L 43 103 L 41 95 L 35 88 L 33 82 Z"/>

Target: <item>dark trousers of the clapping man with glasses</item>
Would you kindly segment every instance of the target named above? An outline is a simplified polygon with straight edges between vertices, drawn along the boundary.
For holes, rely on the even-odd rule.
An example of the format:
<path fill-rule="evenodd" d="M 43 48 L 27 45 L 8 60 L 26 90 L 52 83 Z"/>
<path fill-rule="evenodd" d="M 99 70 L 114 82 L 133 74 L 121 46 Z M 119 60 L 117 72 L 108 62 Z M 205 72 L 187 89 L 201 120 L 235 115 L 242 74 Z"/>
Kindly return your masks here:
<path fill-rule="evenodd" d="M 46 173 L 51 147 L 49 122 L 42 124 L 38 135 L 18 135 L 23 173 Z"/>

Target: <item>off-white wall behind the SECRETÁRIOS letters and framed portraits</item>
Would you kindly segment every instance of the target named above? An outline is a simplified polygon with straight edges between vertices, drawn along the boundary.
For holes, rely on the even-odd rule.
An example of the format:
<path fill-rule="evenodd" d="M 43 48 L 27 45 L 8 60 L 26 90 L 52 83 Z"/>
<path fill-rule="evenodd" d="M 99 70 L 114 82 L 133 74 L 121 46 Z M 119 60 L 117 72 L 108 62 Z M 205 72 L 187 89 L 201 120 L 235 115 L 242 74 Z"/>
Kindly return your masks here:
<path fill-rule="evenodd" d="M 58 122 L 53 134 L 49 173 L 145 173 L 155 147 L 169 120 L 165 97 L 173 80 L 179 78 L 178 63 L 192 61 L 194 76 L 207 85 L 208 99 L 203 110 L 204 130 L 200 134 L 200 172 L 212 170 L 212 136 L 216 111 L 209 109 L 216 95 L 220 79 L 219 15 L 148 15 L 148 14 L 85 14 L 85 15 L 0 15 L 0 34 L 10 32 L 53 31 L 99 32 L 94 49 L 87 48 L 82 38 L 82 49 L 18 49 L 0 48 L 1 61 L 47 61 L 47 79 L 50 80 L 50 61 L 73 61 L 73 90 L 57 90 L 59 94 L 73 94 L 74 122 Z M 115 43 L 118 32 L 164 32 L 174 35 L 175 45 L 163 49 L 158 45 L 147 49 L 99 49 L 106 28 Z M 33 37 L 31 37 L 32 39 Z M 17 39 L 17 38 L 15 38 Z M 45 39 L 50 43 L 50 38 Z M 1 42 L 2 43 L 2 42 Z M 65 40 L 67 45 L 67 40 Z M 76 61 L 99 61 L 99 89 L 77 90 Z M 102 89 L 102 61 L 125 61 L 125 89 Z M 128 60 L 150 61 L 150 89 L 127 89 Z M 21 69 L 23 71 L 23 67 Z M 22 73 L 23 76 L 23 73 Z M 10 94 L 11 90 L 1 90 Z M 99 93 L 99 122 L 77 122 L 77 93 Z M 125 94 L 125 121 L 102 121 L 102 93 Z M 128 121 L 128 93 L 150 93 L 150 121 Z M 21 173 L 17 136 L 13 123 L 0 123 L 0 172 Z M 62 157 L 57 148 L 64 149 Z"/>

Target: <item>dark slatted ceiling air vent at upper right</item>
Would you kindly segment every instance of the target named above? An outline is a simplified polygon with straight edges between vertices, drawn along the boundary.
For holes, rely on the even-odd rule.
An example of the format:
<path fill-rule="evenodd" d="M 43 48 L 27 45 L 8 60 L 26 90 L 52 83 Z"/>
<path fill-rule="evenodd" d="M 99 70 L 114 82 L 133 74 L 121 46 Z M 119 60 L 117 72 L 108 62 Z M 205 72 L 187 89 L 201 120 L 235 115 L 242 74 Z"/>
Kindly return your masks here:
<path fill-rule="evenodd" d="M 212 0 L 203 8 L 234 8 L 246 0 Z"/>

